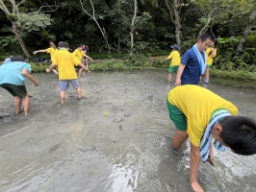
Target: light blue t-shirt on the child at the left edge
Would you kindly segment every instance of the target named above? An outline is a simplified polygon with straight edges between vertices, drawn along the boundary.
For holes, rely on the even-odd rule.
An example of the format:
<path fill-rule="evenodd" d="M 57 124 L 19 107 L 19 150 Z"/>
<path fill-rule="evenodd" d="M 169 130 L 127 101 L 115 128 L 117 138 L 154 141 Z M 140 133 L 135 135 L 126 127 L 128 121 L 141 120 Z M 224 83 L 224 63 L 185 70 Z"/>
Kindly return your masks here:
<path fill-rule="evenodd" d="M 21 61 L 6 62 L 0 66 L 0 84 L 25 84 L 26 78 L 21 74 L 23 69 L 31 73 L 31 65 Z"/>

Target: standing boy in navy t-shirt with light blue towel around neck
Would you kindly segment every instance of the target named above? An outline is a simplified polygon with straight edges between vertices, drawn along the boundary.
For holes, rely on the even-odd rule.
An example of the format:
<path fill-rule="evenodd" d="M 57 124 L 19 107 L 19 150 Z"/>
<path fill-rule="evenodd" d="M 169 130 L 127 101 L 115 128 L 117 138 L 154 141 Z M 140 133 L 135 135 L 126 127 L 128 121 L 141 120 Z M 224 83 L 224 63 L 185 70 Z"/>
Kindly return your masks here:
<path fill-rule="evenodd" d="M 206 32 L 199 36 L 191 49 L 187 50 L 182 59 L 176 75 L 175 85 L 199 84 L 201 75 L 206 67 L 205 49 L 213 44 L 215 35 Z"/>

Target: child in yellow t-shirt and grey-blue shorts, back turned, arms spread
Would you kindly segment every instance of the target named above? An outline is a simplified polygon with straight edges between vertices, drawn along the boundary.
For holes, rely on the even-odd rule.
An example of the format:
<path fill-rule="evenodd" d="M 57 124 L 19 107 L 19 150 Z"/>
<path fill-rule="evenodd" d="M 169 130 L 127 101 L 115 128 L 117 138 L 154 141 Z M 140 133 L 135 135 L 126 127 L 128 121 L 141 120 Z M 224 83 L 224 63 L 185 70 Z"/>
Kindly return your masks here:
<path fill-rule="evenodd" d="M 56 66 L 58 66 L 59 83 L 61 89 L 60 98 L 61 104 L 64 105 L 65 91 L 67 90 L 69 84 L 72 84 L 73 88 L 76 89 L 78 99 L 80 100 L 82 98 L 81 88 L 77 80 L 77 74 L 74 65 L 80 66 L 81 68 L 87 70 L 89 73 L 90 70 L 81 63 L 81 60 L 78 60 L 73 54 L 67 51 L 69 48 L 67 42 L 59 42 L 58 47 L 60 51 L 54 56 L 52 64 L 50 65 L 50 68 L 46 69 L 46 72 L 51 72 Z"/>

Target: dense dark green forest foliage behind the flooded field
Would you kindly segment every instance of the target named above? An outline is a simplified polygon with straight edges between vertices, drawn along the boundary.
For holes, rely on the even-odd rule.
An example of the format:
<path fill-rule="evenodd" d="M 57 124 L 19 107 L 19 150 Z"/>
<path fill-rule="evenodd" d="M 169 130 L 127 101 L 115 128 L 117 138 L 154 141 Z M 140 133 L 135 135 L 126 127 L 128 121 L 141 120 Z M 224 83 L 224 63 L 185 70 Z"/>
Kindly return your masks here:
<path fill-rule="evenodd" d="M 129 60 L 124 63 L 127 66 L 151 67 L 154 63 L 159 68 L 163 64 L 147 58 L 166 56 L 169 46 L 179 38 L 183 54 L 201 31 L 211 30 L 219 42 L 213 71 L 256 71 L 254 0 L 16 0 L 15 12 L 12 1 L 0 0 L 0 60 L 24 55 L 18 34 L 31 55 L 35 50 L 47 48 L 49 40 L 65 40 L 71 49 L 79 42 L 88 44 L 93 59 L 121 58 Z M 134 12 L 135 2 L 137 12 Z M 5 12 L 3 5 L 10 12 Z M 248 34 L 244 37 L 245 30 Z M 243 38 L 243 49 L 238 52 Z M 132 57 L 131 43 L 134 43 Z M 108 46 L 110 55 L 106 54 Z M 49 58 L 45 54 L 38 57 Z"/>

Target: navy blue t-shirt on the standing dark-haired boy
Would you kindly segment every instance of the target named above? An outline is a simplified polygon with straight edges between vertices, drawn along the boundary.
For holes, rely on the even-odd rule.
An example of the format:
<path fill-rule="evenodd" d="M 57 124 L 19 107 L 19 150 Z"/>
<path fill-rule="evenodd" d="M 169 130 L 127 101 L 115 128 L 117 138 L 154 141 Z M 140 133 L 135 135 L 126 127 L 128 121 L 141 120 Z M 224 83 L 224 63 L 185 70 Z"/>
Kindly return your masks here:
<path fill-rule="evenodd" d="M 200 54 L 204 58 L 204 52 L 200 51 Z M 200 65 L 192 48 L 182 56 L 181 63 L 186 65 L 181 75 L 181 84 L 199 84 Z"/>

